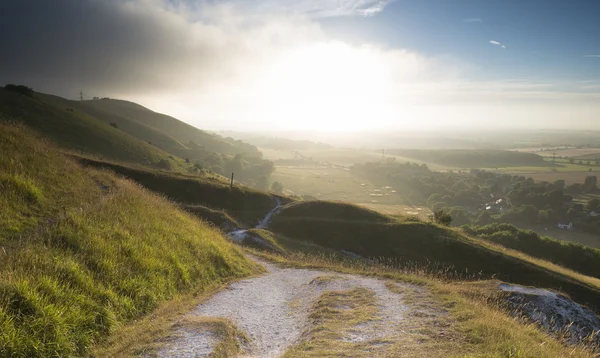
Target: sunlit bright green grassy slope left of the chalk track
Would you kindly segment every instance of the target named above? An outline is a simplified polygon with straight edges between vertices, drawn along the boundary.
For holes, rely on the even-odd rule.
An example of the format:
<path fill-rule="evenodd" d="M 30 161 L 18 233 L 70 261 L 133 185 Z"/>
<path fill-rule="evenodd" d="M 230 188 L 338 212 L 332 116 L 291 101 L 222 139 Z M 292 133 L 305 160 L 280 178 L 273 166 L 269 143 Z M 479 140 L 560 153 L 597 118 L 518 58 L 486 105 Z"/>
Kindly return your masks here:
<path fill-rule="evenodd" d="M 0 124 L 0 352 L 84 356 L 118 326 L 254 267 L 135 183 Z"/>

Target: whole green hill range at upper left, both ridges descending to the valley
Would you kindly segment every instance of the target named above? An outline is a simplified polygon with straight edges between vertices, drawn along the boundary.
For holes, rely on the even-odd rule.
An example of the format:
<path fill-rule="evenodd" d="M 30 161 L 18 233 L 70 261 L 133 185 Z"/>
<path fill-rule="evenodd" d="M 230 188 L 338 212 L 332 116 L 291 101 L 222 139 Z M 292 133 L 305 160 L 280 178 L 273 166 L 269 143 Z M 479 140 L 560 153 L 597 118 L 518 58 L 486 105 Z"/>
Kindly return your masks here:
<path fill-rule="evenodd" d="M 235 172 L 236 179 L 261 188 L 274 170 L 251 144 L 127 101 L 72 101 L 7 86 L 0 88 L 0 118 L 23 122 L 71 150 L 151 168 Z"/>

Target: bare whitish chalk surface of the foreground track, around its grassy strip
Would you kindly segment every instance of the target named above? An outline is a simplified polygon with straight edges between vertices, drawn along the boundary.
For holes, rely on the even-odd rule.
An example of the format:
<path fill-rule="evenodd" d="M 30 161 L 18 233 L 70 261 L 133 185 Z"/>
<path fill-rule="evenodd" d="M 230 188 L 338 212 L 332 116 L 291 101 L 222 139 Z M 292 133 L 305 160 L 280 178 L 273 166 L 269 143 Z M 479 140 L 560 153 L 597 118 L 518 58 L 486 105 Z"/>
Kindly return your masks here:
<path fill-rule="evenodd" d="M 402 303 L 401 295 L 389 291 L 383 280 L 313 269 L 281 268 L 253 259 L 268 273 L 229 285 L 190 313 L 196 317 L 231 320 L 250 338 L 243 357 L 279 357 L 299 343 L 303 332 L 310 327 L 310 308 L 326 291 L 363 287 L 375 293 L 379 319 L 354 327 L 351 335 L 345 337 L 347 340 L 363 342 L 391 338 L 406 319 L 407 306 Z M 328 279 L 315 280 L 323 276 Z M 158 356 L 205 357 L 211 351 L 207 347 L 215 344 L 211 334 L 189 327 L 179 328 L 177 333 L 178 338 Z"/>

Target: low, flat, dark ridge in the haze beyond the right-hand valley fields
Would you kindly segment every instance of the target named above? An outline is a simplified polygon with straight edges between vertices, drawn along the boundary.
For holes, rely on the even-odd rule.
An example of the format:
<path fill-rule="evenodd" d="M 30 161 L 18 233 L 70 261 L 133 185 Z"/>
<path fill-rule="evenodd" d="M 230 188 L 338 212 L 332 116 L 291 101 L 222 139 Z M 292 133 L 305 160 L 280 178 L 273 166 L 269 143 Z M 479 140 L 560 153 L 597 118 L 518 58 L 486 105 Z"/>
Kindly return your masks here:
<path fill-rule="evenodd" d="M 515 166 L 548 166 L 544 158 L 533 153 L 491 149 L 392 149 L 390 154 L 400 155 L 426 163 L 457 168 L 499 168 Z"/>

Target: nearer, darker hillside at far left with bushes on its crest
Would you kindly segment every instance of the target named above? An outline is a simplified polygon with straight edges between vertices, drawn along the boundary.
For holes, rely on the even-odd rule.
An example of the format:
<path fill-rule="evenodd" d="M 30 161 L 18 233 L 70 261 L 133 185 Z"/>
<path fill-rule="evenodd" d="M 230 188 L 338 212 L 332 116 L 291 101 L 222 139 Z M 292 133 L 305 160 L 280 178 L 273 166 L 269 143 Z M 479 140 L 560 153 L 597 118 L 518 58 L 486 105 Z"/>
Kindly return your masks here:
<path fill-rule="evenodd" d="M 18 121 L 64 148 L 112 160 L 180 168 L 181 160 L 75 108 L 74 101 L 33 93 L 29 97 L 0 88 L 0 121 Z"/>

